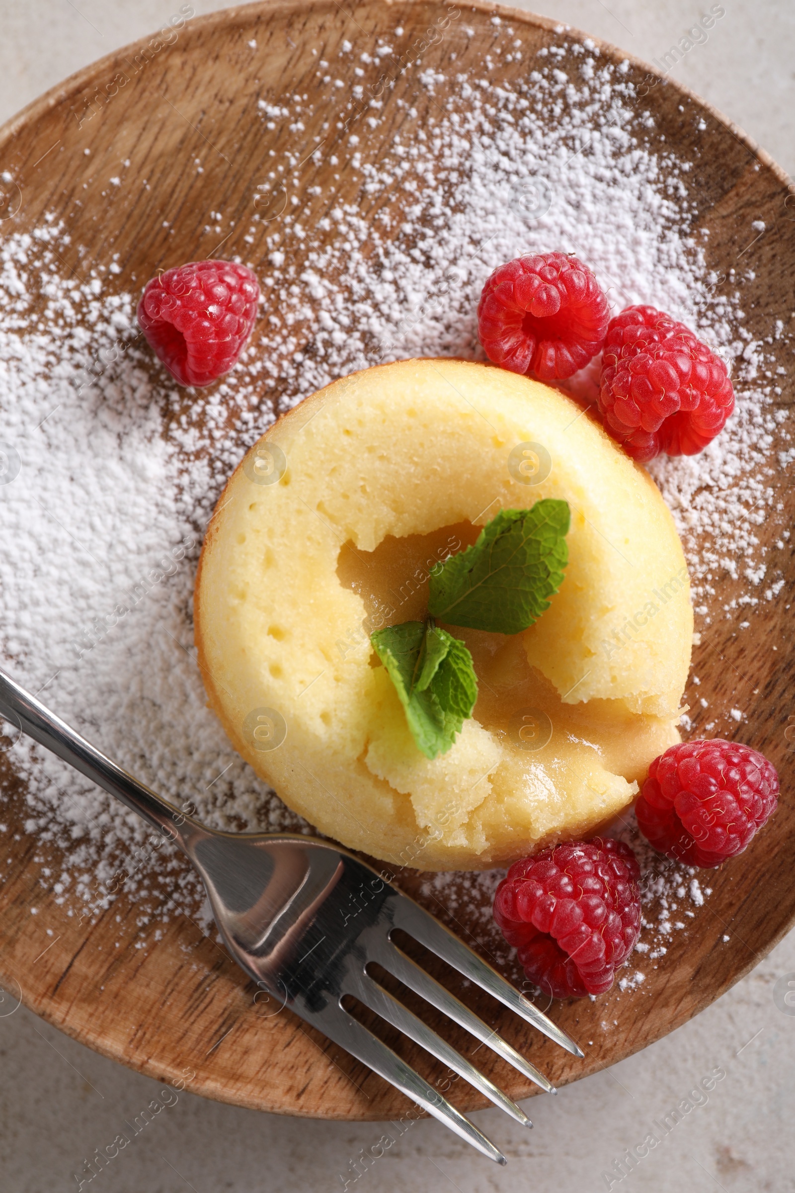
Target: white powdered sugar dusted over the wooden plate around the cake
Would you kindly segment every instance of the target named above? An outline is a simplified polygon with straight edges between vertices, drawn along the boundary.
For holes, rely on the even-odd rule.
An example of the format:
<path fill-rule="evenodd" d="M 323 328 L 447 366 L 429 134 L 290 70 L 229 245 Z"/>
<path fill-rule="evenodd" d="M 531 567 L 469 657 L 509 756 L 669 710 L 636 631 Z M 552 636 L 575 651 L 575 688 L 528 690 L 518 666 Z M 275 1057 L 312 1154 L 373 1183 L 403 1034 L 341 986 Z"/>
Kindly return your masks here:
<path fill-rule="evenodd" d="M 504 38 L 518 57 L 513 31 Z M 375 72 L 377 58 L 360 54 L 360 69 Z M 262 316 L 238 367 L 209 392 L 179 390 L 153 364 L 135 327 L 137 295 L 118 292 L 114 261 L 82 278 L 69 273 L 54 220 L 2 245 L 4 665 L 122 766 L 175 803 L 190 801 L 211 824 L 308 830 L 205 706 L 191 599 L 201 534 L 225 478 L 274 408 L 353 369 L 416 356 L 480 359 L 480 288 L 521 253 L 576 253 L 614 309 L 651 302 L 697 326 L 733 361 L 738 413 L 727 429 L 697 460 L 665 459 L 652 471 L 683 534 L 703 626 L 715 616 L 709 598 L 719 574 L 741 586 L 737 607 L 778 593 L 775 560 L 754 534 L 771 512 L 770 477 L 785 463 L 771 451 L 781 418 L 768 404 L 776 378 L 765 376 L 768 346 L 744 328 L 741 279 L 716 285 L 707 268 L 690 163 L 648 147 L 651 118 L 626 72 L 603 64 L 590 43 L 561 39 L 511 86 L 497 64 L 486 55 L 477 75 L 459 75 L 452 97 L 434 100 L 424 120 L 396 100 L 399 132 L 378 156 L 368 155 L 365 132 L 378 126 L 383 104 L 371 104 L 350 125 L 346 159 L 328 162 L 361 179 L 358 204 L 329 204 L 310 187 L 279 218 L 262 205 L 244 237 L 257 252 L 267 246 L 257 270 Z M 416 69 L 416 87 L 431 98 L 440 81 Z M 299 97 L 263 97 L 262 135 L 300 128 L 313 110 Z M 324 152 L 316 149 L 317 162 Z M 266 198 L 286 196 L 291 178 L 297 185 L 298 148 L 273 162 Z M 325 214 L 313 214 L 316 202 Z M 223 231 L 223 212 L 212 218 Z M 39 290 L 46 303 L 35 314 Z M 588 400 L 592 371 L 573 390 Z M 26 785 L 25 830 L 63 847 L 63 871 L 44 884 L 67 914 L 107 907 L 120 866 L 142 923 L 166 894 L 195 910 L 197 884 L 167 847 L 131 853 L 145 836 L 132 814 L 26 738 L 7 756 Z M 657 872 L 651 859 L 646 872 Z M 502 957 L 487 897 L 499 877 L 440 876 L 426 895 L 452 908 L 477 888 L 483 939 Z M 652 894 L 677 923 L 670 917 L 679 896 L 671 891 L 700 902 L 690 876 L 677 872 L 665 884 Z M 641 940 L 650 960 L 673 931 L 664 922 Z"/>

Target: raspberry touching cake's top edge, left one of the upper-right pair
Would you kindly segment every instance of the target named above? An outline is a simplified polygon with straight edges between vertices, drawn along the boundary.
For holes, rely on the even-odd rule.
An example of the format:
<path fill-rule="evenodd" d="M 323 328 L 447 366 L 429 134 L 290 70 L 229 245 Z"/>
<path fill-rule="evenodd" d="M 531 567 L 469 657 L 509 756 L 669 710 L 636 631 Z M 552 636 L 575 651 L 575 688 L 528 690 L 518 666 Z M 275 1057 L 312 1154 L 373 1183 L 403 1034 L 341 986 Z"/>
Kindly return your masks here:
<path fill-rule="evenodd" d="M 565 253 L 518 256 L 486 279 L 478 333 L 490 360 L 542 381 L 571 377 L 602 347 L 609 310 L 586 266 Z"/>

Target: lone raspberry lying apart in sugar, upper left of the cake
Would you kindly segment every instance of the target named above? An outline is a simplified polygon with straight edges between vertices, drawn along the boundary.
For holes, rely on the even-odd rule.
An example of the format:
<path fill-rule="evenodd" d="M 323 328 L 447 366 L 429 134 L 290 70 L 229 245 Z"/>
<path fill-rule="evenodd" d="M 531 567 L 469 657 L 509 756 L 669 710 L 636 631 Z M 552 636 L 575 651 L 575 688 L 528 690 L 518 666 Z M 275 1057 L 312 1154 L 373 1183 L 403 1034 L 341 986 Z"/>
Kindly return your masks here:
<path fill-rule="evenodd" d="M 210 385 L 229 372 L 251 334 L 256 276 L 231 261 L 192 261 L 147 283 L 138 323 L 180 385 Z"/>

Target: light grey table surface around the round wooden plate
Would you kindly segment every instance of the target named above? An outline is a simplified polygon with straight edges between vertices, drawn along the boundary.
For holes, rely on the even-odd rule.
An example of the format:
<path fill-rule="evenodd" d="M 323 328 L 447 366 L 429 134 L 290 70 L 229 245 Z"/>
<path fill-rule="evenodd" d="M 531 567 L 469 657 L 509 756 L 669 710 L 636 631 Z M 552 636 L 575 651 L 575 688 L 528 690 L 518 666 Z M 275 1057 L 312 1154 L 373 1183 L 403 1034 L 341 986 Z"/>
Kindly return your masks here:
<path fill-rule="evenodd" d="M 540 0 L 557 20 L 651 61 L 710 5 L 697 0 Z M 193 0 L 197 12 L 221 7 Z M 0 119 L 94 58 L 159 27 L 176 0 L 5 0 Z M 529 5 L 527 7 L 530 7 Z M 671 76 L 700 92 L 795 174 L 795 4 L 727 0 L 706 44 Z M 377 1124 L 316 1123 L 236 1109 L 182 1093 L 83 1189 L 104 1193 L 622 1193 L 795 1191 L 795 1007 L 774 985 L 795 978 L 795 933 L 679 1031 L 607 1073 L 532 1101 L 535 1127 L 497 1111 L 476 1119 L 510 1157 L 480 1161 L 434 1123 L 415 1124 L 354 1181 Z M 0 1007 L 0 1012 L 2 1007 Z M 714 1069 L 726 1076 L 628 1175 L 641 1144 Z M 267 1075 L 266 1078 L 267 1080 Z M 74 1174 L 133 1123 L 155 1082 L 105 1061 L 19 1008 L 0 1018 L 0 1189 L 77 1189 Z M 126 1133 L 130 1133 L 129 1130 Z M 658 1132 L 659 1133 L 659 1132 Z"/>

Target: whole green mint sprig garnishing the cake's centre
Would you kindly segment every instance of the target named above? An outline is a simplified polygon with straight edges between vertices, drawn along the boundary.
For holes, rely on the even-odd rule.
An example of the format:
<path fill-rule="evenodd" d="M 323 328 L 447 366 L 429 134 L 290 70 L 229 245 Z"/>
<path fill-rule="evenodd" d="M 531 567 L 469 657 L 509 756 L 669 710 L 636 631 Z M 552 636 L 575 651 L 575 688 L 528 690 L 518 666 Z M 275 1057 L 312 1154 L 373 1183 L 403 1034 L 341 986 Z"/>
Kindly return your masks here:
<path fill-rule="evenodd" d="M 569 562 L 565 501 L 501 509 L 478 540 L 430 575 L 428 622 L 405 622 L 371 635 L 426 758 L 446 754 L 472 716 L 478 680 L 472 655 L 435 620 L 491 633 L 521 633 L 549 607 Z"/>

